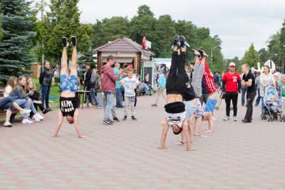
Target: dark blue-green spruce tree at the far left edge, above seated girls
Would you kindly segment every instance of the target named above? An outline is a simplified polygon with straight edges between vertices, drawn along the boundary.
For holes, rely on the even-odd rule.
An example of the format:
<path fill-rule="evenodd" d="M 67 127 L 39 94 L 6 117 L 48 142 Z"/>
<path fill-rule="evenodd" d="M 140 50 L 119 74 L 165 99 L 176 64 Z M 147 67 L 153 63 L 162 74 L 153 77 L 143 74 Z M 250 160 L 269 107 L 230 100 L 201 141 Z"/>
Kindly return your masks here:
<path fill-rule="evenodd" d="M 33 62 L 34 12 L 26 0 L 1 0 L 3 38 L 0 42 L 0 79 L 28 75 Z"/>

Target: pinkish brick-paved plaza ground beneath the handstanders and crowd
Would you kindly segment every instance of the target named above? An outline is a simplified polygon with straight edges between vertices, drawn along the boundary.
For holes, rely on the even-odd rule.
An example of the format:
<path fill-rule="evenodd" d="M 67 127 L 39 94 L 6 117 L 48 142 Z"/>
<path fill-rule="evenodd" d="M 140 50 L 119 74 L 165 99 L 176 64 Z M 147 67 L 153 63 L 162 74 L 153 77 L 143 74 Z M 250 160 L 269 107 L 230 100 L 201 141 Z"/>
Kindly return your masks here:
<path fill-rule="evenodd" d="M 102 125 L 103 110 L 80 109 L 87 139 L 78 139 L 64 122 L 53 138 L 57 112 L 34 125 L 0 127 L 0 190 L 2 189 L 285 189 L 285 123 L 259 119 L 243 124 L 223 122 L 225 104 L 214 112 L 217 122 L 207 138 L 194 137 L 195 152 L 175 146 L 180 136 L 160 145 L 162 102 L 138 97 L 138 121 Z M 123 109 L 117 110 L 123 117 Z M 204 123 L 204 127 L 207 124 Z"/>

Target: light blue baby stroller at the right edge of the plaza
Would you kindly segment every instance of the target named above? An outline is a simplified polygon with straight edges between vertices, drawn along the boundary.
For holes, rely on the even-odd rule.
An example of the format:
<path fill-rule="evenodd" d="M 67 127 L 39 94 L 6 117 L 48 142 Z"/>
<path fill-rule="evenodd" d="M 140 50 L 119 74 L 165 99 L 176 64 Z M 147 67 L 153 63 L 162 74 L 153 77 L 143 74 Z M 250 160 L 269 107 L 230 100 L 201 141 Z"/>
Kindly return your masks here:
<path fill-rule="evenodd" d="M 275 97 L 274 101 L 271 99 L 272 96 Z M 273 122 L 274 120 L 285 121 L 282 115 L 282 103 L 278 96 L 276 88 L 273 86 L 267 87 L 265 89 L 265 94 L 263 98 L 264 102 L 264 113 L 261 115 L 261 120 L 268 120 Z"/>

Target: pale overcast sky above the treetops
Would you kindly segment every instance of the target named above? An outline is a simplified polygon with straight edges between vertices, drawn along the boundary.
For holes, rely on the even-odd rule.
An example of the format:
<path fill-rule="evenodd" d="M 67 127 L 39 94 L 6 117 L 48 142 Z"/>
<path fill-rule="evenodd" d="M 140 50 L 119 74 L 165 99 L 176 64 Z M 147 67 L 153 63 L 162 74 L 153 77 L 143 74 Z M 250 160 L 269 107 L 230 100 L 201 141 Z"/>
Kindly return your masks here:
<path fill-rule="evenodd" d="M 169 14 L 176 21 L 185 19 L 209 28 L 212 36 L 222 39 L 224 58 L 242 58 L 251 43 L 257 50 L 266 47 L 285 19 L 284 0 L 80 0 L 78 6 L 81 22 L 95 23 L 112 16 L 132 18 L 143 4 L 150 6 L 155 17 Z"/>

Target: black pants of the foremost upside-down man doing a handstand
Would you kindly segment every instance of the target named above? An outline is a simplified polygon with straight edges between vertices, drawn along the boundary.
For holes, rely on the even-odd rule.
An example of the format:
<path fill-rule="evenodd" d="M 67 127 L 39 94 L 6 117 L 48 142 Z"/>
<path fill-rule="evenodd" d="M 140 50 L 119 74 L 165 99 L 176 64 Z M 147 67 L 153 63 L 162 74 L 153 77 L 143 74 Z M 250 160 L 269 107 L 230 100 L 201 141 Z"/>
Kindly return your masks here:
<path fill-rule="evenodd" d="M 165 87 L 167 94 L 180 93 L 183 97 L 192 95 L 194 90 L 185 71 L 185 52 L 180 52 L 180 55 L 177 51 L 172 53 L 170 73 L 167 76 Z"/>

